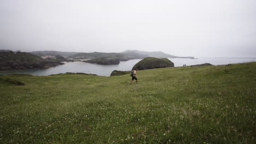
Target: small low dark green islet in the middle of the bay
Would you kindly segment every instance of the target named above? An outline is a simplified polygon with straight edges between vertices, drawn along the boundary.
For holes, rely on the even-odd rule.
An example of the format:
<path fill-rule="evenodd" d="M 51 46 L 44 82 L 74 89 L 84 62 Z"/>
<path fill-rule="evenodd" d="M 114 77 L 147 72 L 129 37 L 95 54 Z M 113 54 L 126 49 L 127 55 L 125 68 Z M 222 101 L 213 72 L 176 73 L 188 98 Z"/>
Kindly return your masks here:
<path fill-rule="evenodd" d="M 90 60 L 84 61 L 84 62 L 97 63 L 97 64 L 102 64 L 102 65 L 119 64 L 120 63 L 118 57 L 99 57 L 99 58 L 90 59 Z"/>

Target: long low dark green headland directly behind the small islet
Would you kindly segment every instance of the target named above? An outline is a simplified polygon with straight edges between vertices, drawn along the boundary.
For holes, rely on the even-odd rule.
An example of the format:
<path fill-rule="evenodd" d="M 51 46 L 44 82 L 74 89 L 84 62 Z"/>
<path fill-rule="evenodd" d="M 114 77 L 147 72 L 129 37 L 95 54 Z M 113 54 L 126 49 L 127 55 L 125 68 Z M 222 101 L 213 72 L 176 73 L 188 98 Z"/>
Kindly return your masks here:
<path fill-rule="evenodd" d="M 141 58 L 147 57 L 147 55 L 141 55 L 135 52 L 128 52 L 128 53 L 81 52 L 71 56 L 71 58 L 74 58 L 74 59 L 92 59 L 92 58 L 98 58 L 98 57 L 117 57 L 119 61 L 128 61 L 129 59 L 141 59 Z"/>

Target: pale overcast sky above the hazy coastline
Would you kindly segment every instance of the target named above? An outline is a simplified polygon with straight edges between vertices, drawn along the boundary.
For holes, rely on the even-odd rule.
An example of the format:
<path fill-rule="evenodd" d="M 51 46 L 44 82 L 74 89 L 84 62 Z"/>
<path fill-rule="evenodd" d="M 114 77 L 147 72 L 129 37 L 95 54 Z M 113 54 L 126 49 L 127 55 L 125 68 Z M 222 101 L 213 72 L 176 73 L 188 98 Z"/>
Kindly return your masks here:
<path fill-rule="evenodd" d="M 255 0 L 0 0 L 0 49 L 256 57 Z"/>

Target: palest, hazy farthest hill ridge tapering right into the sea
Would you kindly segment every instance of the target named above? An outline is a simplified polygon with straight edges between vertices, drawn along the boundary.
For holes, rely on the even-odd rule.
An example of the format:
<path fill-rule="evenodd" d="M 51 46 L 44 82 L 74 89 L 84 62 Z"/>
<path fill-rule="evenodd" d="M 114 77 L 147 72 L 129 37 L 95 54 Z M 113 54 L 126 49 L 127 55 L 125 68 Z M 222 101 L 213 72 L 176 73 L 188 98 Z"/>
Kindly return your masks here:
<path fill-rule="evenodd" d="M 138 50 L 126 50 L 122 53 L 138 53 L 140 55 L 147 55 L 149 57 L 158 57 L 158 58 L 191 58 L 194 59 L 194 57 L 178 57 L 178 56 L 173 56 L 169 55 L 167 53 L 164 53 L 162 51 L 153 51 L 153 52 L 148 52 L 148 51 L 138 51 Z"/>

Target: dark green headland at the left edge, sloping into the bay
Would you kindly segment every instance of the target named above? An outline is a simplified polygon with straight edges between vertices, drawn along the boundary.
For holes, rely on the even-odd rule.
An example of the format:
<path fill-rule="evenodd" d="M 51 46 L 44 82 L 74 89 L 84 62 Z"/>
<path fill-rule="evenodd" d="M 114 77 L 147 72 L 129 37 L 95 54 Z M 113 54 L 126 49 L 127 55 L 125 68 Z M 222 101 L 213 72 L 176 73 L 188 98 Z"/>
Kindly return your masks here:
<path fill-rule="evenodd" d="M 0 70 L 49 68 L 63 63 L 49 61 L 27 52 L 0 52 Z"/>

